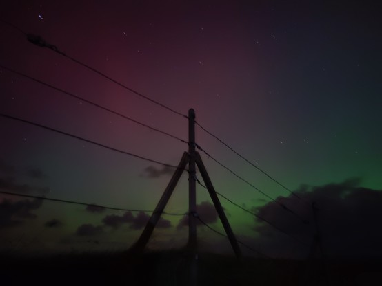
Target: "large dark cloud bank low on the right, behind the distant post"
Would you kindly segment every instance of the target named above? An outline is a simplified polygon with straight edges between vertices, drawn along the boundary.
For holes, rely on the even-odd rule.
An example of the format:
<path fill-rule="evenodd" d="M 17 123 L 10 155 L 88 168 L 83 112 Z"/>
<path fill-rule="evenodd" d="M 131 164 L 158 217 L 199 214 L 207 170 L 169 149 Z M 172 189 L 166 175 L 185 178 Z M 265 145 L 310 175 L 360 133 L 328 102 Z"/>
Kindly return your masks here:
<path fill-rule="evenodd" d="M 358 180 L 341 184 L 328 184 L 314 188 L 303 187 L 296 194 L 305 201 L 290 197 L 279 197 L 277 201 L 310 220 L 304 225 L 277 203 L 268 203 L 257 208 L 257 214 L 302 241 L 311 244 L 315 224 L 310 204 L 316 202 L 317 219 L 323 244 L 328 256 L 372 256 L 382 255 L 382 191 L 359 187 Z M 308 202 L 308 203 L 306 203 Z M 256 219 L 256 240 L 264 252 L 273 255 L 307 256 L 310 247 L 295 242 L 290 237 L 274 230 L 272 226 Z"/>

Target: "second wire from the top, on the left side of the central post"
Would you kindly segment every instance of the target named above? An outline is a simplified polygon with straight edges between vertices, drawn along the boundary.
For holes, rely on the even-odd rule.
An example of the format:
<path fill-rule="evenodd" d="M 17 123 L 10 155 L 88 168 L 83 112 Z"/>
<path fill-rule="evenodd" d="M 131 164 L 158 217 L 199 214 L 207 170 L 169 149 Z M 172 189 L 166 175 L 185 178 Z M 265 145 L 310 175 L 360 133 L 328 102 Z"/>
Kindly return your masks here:
<path fill-rule="evenodd" d="M 45 83 L 45 82 L 43 82 L 42 80 L 39 80 L 39 79 L 34 78 L 34 77 L 32 77 L 32 76 L 28 76 L 27 74 L 23 74 L 22 72 L 18 72 L 18 71 L 16 71 L 15 69 L 11 69 L 10 67 L 6 67 L 6 66 L 1 65 L 1 64 L 0 64 L 0 67 L 3 68 L 3 69 L 8 70 L 9 72 L 13 72 L 14 74 L 18 74 L 19 76 L 23 76 L 24 78 L 28 78 L 28 79 L 30 79 L 30 80 L 33 80 L 33 81 L 36 82 L 36 83 L 39 83 L 39 84 L 41 84 L 41 85 L 45 85 L 46 87 L 50 87 L 51 89 L 54 89 L 54 90 L 56 90 L 56 91 L 59 91 L 59 92 L 61 92 L 62 94 L 66 94 L 67 96 L 71 96 L 72 98 L 77 98 L 77 99 L 79 99 L 79 100 L 81 100 L 81 101 L 83 101 L 83 102 L 86 102 L 86 103 L 88 103 L 88 104 L 93 105 L 94 107 L 98 107 L 99 109 L 103 109 L 103 110 L 108 111 L 108 112 L 110 112 L 110 113 L 112 113 L 112 114 L 118 115 L 118 116 L 120 116 L 121 118 L 124 118 L 124 119 L 126 119 L 126 120 L 130 120 L 130 121 L 132 121 L 132 122 L 134 122 L 134 123 L 136 123 L 136 124 L 139 124 L 139 125 L 141 125 L 141 126 L 144 126 L 144 127 L 148 128 L 148 129 L 151 129 L 151 130 L 156 131 L 156 132 L 158 132 L 158 133 L 161 133 L 161 134 L 163 134 L 163 135 L 167 135 L 168 137 L 172 137 L 173 139 L 179 140 L 179 141 L 181 141 L 181 142 L 183 142 L 183 143 L 188 143 L 187 141 L 185 141 L 185 140 L 183 140 L 183 139 L 181 139 L 181 138 L 179 138 L 179 137 L 177 137 L 177 136 L 175 136 L 175 135 L 172 135 L 172 134 L 170 134 L 170 133 L 168 133 L 168 132 L 165 132 L 165 131 L 162 131 L 162 130 L 160 130 L 160 129 L 154 128 L 154 127 L 152 127 L 152 126 L 149 126 L 148 124 L 144 124 L 144 123 L 142 123 L 142 122 L 139 122 L 138 120 L 135 120 L 135 119 L 130 118 L 130 117 L 126 116 L 126 115 L 123 115 L 122 113 L 119 113 L 119 112 L 117 112 L 117 111 L 113 111 L 112 109 L 109 109 L 109 108 L 107 108 L 107 107 L 103 107 L 101 104 L 97 104 L 97 103 L 95 103 L 95 102 L 92 102 L 92 101 L 90 101 L 90 100 L 87 100 L 86 98 L 82 98 L 81 96 L 77 96 L 76 94 L 72 94 L 72 93 L 70 93 L 69 91 L 66 91 L 66 90 L 64 90 L 64 89 L 61 89 L 61 88 L 59 88 L 59 87 L 55 87 L 54 85 L 50 85 L 49 83 Z"/>

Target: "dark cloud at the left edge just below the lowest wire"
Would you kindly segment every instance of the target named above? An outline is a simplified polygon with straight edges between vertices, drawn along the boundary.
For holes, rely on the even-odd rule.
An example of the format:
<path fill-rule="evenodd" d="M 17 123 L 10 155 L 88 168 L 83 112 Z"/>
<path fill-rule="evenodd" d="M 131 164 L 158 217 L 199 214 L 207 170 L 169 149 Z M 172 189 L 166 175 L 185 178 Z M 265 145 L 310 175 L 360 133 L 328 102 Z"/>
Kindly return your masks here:
<path fill-rule="evenodd" d="M 35 219 L 36 214 L 32 210 L 37 210 L 43 203 L 42 199 L 28 199 L 23 201 L 9 201 L 3 199 L 0 203 L 0 229 L 8 228 L 23 223 L 24 219 Z"/>

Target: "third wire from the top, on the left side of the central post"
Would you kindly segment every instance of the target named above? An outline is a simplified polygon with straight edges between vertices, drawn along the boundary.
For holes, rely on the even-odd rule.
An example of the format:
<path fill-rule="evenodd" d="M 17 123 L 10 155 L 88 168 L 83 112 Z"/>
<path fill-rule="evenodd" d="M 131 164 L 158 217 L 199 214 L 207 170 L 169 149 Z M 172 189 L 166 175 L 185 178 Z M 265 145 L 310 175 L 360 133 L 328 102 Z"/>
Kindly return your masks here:
<path fill-rule="evenodd" d="M 152 162 L 152 163 L 155 163 L 155 164 L 160 164 L 160 165 L 163 165 L 163 166 L 168 166 L 168 167 L 171 167 L 171 168 L 179 168 L 178 166 L 174 166 L 174 165 L 171 165 L 171 164 L 166 164 L 166 163 L 154 160 L 154 159 L 149 159 L 149 158 L 143 157 L 141 155 L 133 154 L 133 153 L 130 153 L 130 152 L 127 152 L 127 151 L 123 151 L 123 150 L 114 148 L 114 147 L 110 147 L 110 146 L 107 146 L 105 144 L 101 144 L 101 143 L 98 143 L 98 142 L 95 142 L 95 141 L 92 141 L 92 140 L 88 140 L 86 138 L 83 138 L 83 137 L 80 137 L 80 136 L 77 136 L 77 135 L 73 135 L 73 134 L 67 133 L 65 131 L 60 131 L 58 129 L 54 129 L 52 127 L 48 127 L 48 126 L 45 126 L 45 125 L 42 125 L 42 124 L 39 124 L 39 123 L 36 123 L 36 122 L 32 122 L 32 121 L 29 121 L 29 120 L 24 120 L 24 119 L 17 118 L 17 117 L 11 116 L 11 115 L 6 115 L 6 114 L 3 114 L 3 113 L 0 113 L 0 116 L 3 117 L 3 118 L 17 120 L 19 122 L 23 122 L 23 123 L 27 123 L 27 124 L 30 124 L 30 125 L 38 126 L 38 127 L 42 128 L 42 129 L 46 129 L 46 130 L 49 130 L 49 131 L 53 131 L 55 133 L 60 133 L 62 135 L 73 137 L 75 139 L 78 139 L 78 140 L 81 140 L 81 141 L 84 141 L 84 142 L 88 142 L 90 144 L 94 144 L 94 145 L 100 146 L 102 148 L 107 148 L 109 150 L 116 151 L 118 153 L 122 153 L 122 154 L 125 154 L 125 155 L 129 155 L 129 156 L 132 156 L 132 157 L 143 159 L 143 160 L 148 161 L 148 162 Z"/>

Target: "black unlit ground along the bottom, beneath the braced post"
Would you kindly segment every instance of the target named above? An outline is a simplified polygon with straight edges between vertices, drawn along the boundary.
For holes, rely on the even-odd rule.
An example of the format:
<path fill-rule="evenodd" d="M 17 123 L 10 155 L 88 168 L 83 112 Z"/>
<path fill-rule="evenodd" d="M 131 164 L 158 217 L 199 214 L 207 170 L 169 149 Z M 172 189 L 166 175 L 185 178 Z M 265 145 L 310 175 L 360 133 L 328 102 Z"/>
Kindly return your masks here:
<path fill-rule="evenodd" d="M 0 256 L 0 285 L 188 285 L 183 252 Z M 380 259 L 292 261 L 200 254 L 197 285 L 382 285 Z"/>

